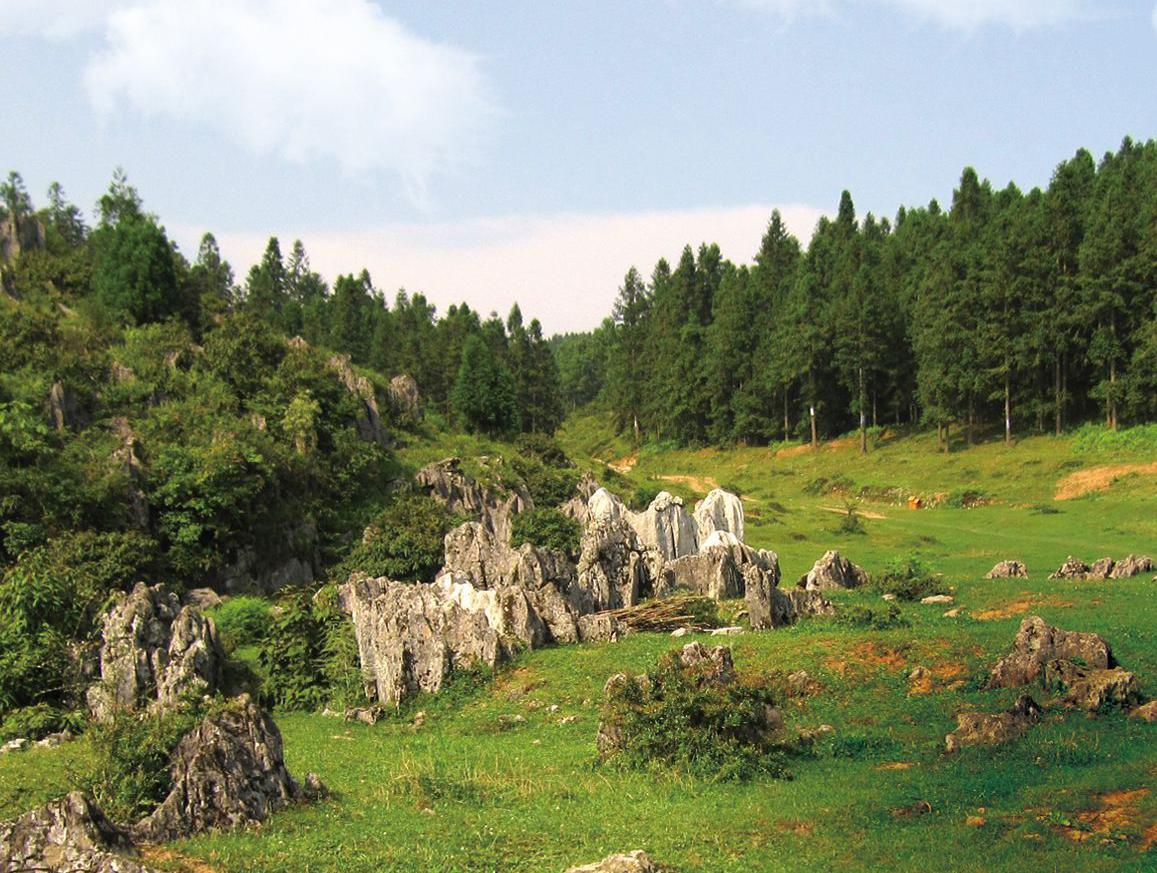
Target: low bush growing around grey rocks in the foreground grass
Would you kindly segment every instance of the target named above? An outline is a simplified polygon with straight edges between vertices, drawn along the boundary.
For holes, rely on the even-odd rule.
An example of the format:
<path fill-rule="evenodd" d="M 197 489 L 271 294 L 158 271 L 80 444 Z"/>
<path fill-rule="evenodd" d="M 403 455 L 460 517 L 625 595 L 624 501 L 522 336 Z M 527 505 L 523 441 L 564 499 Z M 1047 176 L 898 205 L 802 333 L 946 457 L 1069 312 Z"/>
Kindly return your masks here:
<path fill-rule="evenodd" d="M 794 746 L 762 727 L 766 709 L 783 700 L 782 690 L 742 674 L 720 683 L 706 675 L 708 669 L 685 667 L 675 650 L 642 681 L 612 682 L 602 719 L 619 731 L 620 741 L 605 763 L 710 780 L 790 778 L 787 759 Z"/>

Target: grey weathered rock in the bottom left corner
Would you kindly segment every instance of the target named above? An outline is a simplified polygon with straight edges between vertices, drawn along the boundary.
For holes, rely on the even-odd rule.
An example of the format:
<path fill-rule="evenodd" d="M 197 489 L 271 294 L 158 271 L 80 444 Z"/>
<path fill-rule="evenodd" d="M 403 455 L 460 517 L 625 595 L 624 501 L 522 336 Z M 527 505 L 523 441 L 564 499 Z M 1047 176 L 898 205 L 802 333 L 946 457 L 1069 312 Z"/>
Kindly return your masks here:
<path fill-rule="evenodd" d="M 74 792 L 0 823 L 0 870 L 12 873 L 150 873 L 128 836 Z"/>

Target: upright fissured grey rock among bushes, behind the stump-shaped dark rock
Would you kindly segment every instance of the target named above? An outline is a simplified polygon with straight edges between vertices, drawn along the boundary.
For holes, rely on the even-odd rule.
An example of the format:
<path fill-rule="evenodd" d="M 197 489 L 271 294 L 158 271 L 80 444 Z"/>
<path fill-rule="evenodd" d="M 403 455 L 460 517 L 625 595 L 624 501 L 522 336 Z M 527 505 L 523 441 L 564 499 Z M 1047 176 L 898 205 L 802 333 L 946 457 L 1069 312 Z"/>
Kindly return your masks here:
<path fill-rule="evenodd" d="M 88 693 L 97 719 L 117 709 L 171 706 L 221 686 L 224 654 L 216 628 L 164 585 L 138 584 L 103 620 L 101 681 Z"/>

